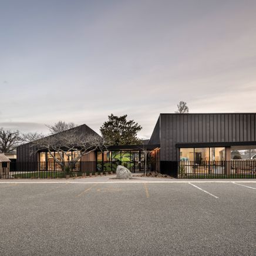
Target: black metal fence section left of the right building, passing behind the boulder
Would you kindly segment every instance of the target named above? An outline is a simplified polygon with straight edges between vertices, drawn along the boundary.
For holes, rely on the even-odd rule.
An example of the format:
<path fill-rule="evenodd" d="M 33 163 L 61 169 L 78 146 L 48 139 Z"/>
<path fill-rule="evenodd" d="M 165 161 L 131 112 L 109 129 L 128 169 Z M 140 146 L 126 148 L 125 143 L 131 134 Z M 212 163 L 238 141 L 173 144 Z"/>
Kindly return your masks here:
<path fill-rule="evenodd" d="M 144 161 L 60 161 L 60 162 L 11 162 L 0 170 L 0 178 L 69 178 L 115 173 L 122 165 L 132 173 L 144 173 Z M 146 171 L 154 170 L 148 163 Z"/>

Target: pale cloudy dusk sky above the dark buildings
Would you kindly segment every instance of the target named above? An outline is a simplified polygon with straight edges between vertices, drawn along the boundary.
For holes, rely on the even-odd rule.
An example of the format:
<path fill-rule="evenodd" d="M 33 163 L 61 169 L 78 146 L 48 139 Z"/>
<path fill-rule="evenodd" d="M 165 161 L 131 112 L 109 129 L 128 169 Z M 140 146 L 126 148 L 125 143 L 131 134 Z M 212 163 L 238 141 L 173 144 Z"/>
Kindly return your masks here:
<path fill-rule="evenodd" d="M 180 100 L 256 112 L 255 14 L 255 0 L 0 0 L 0 127 L 99 132 L 127 114 L 146 139 Z"/>

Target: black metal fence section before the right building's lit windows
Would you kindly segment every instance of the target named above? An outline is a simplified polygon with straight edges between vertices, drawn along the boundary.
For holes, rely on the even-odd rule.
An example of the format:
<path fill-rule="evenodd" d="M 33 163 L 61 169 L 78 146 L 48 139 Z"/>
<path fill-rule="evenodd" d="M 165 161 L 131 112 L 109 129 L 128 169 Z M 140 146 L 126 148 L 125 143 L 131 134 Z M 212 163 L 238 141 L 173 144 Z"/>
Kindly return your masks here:
<path fill-rule="evenodd" d="M 256 161 L 180 161 L 178 178 L 256 178 Z"/>

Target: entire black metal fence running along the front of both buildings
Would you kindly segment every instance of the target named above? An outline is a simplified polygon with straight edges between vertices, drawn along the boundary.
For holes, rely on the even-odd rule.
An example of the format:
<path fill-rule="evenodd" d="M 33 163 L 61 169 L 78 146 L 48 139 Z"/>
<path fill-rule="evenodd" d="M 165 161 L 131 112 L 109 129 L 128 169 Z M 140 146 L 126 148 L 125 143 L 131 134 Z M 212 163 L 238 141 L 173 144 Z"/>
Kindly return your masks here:
<path fill-rule="evenodd" d="M 157 171 L 174 178 L 256 178 L 256 160 L 231 161 L 63 161 L 11 162 L 0 168 L 0 178 L 69 178 L 115 173 L 117 165 L 132 173 Z M 160 171 L 159 171 L 160 166 Z"/>

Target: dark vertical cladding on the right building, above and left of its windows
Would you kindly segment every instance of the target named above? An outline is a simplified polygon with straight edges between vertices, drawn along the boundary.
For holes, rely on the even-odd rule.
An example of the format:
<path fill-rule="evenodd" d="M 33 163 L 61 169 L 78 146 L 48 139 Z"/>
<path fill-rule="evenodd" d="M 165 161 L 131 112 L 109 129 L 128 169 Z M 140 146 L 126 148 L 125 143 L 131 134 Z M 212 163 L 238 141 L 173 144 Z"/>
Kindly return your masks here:
<path fill-rule="evenodd" d="M 160 114 L 150 140 L 157 139 L 161 161 L 178 160 L 178 143 L 255 142 L 256 113 Z"/>

